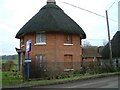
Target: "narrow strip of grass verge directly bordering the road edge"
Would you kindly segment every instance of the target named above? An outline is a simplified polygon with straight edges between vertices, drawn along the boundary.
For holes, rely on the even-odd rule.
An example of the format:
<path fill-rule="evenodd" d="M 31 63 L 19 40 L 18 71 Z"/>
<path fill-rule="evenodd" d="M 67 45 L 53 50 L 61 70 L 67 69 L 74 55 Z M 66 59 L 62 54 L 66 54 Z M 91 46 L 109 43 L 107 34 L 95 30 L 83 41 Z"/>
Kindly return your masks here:
<path fill-rule="evenodd" d="M 85 80 L 85 79 L 92 79 L 92 78 L 99 78 L 99 77 L 106 77 L 106 76 L 111 76 L 111 75 L 117 75 L 120 74 L 120 72 L 114 72 L 114 73 L 102 73 L 102 74 L 94 74 L 94 75 L 75 75 L 71 76 L 69 78 L 64 78 L 64 79 L 53 79 L 53 80 L 31 80 L 31 81 L 26 81 L 24 83 L 19 83 L 16 86 L 11 86 L 11 85 L 4 85 L 3 88 L 19 88 L 19 87 L 34 87 L 34 86 L 41 86 L 41 85 L 51 85 L 51 84 L 59 84 L 59 83 L 66 83 L 66 82 L 71 82 L 71 81 L 76 81 L 76 80 Z M 16 83 L 17 84 L 17 83 Z"/>

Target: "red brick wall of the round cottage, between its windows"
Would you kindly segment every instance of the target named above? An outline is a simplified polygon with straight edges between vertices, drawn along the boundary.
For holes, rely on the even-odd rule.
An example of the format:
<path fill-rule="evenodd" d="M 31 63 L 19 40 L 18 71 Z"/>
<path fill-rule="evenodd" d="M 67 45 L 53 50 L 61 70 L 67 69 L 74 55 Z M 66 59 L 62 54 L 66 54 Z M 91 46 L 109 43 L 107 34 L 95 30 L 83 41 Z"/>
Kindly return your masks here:
<path fill-rule="evenodd" d="M 46 33 L 46 45 L 34 45 L 36 41 L 35 34 L 31 33 L 29 35 L 24 36 L 24 47 L 26 48 L 26 41 L 32 40 L 32 52 L 31 52 L 31 60 L 32 64 L 35 62 L 35 56 L 37 54 L 45 54 L 46 60 L 49 62 L 60 62 L 57 64 L 53 64 L 54 68 L 61 68 L 64 70 L 64 55 L 72 55 L 73 56 L 73 68 L 80 69 L 81 62 L 81 54 L 82 49 L 80 47 L 80 36 L 72 35 L 72 43 L 71 46 L 64 45 L 64 33 L 51 32 Z"/>

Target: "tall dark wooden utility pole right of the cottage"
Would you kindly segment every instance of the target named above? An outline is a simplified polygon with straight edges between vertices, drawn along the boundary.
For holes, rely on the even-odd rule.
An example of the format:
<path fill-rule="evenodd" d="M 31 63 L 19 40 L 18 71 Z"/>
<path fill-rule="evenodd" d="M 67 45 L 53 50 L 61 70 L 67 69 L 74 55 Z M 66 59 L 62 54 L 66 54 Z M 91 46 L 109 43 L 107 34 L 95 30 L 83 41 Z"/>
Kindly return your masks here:
<path fill-rule="evenodd" d="M 112 65 L 112 46 L 111 46 L 111 40 L 110 40 L 110 30 L 109 30 L 109 21 L 108 21 L 108 13 L 107 13 L 107 10 L 105 11 L 106 12 L 106 21 L 107 21 L 107 30 L 108 30 L 108 41 L 109 41 L 109 55 L 110 55 L 110 65 L 111 67 L 113 66 Z"/>

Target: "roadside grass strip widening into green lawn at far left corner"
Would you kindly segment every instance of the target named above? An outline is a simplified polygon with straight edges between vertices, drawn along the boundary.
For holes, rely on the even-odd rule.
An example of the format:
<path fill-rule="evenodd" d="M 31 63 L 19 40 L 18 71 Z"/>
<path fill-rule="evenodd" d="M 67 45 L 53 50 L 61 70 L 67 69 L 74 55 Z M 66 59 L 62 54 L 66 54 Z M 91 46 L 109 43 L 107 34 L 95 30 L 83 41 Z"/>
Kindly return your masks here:
<path fill-rule="evenodd" d="M 33 86 L 40 86 L 40 85 L 50 85 L 50 84 L 58 84 L 58 83 L 66 83 L 70 81 L 75 80 L 85 80 L 85 79 L 91 79 L 91 78 L 97 78 L 97 77 L 105 77 L 110 75 L 116 75 L 120 74 L 120 72 L 114 72 L 114 73 L 102 73 L 102 74 L 86 74 L 86 75 L 72 75 L 69 78 L 63 78 L 63 79 L 53 79 L 53 80 L 30 80 L 22 82 L 22 77 L 10 77 L 3 76 L 3 88 L 9 88 L 9 87 L 33 87 Z"/>

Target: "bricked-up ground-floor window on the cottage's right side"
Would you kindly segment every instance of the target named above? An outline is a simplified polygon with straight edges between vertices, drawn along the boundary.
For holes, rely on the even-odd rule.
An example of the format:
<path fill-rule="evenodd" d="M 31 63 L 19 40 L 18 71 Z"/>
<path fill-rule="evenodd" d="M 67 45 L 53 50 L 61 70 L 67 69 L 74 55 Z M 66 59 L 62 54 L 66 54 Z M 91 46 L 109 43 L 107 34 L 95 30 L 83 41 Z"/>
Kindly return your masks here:
<path fill-rule="evenodd" d="M 65 66 L 65 69 L 72 69 L 73 68 L 72 55 L 64 55 L 64 66 Z"/>

